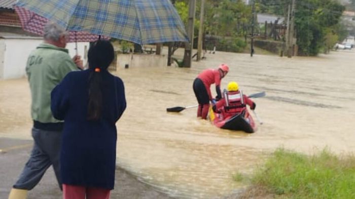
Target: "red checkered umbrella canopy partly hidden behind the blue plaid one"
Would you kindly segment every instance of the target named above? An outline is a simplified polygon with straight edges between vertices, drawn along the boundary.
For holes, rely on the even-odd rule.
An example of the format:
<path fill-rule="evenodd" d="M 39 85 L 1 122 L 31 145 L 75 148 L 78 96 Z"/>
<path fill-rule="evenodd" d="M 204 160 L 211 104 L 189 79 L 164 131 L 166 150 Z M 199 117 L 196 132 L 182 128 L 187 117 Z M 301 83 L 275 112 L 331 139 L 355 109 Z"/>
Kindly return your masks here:
<path fill-rule="evenodd" d="M 15 11 L 18 14 L 22 29 L 43 36 L 44 26 L 48 19 L 37 15 L 27 9 L 15 6 Z M 99 35 L 91 34 L 89 32 L 69 31 L 68 42 L 95 42 Z M 109 39 L 105 37 L 104 39 Z"/>

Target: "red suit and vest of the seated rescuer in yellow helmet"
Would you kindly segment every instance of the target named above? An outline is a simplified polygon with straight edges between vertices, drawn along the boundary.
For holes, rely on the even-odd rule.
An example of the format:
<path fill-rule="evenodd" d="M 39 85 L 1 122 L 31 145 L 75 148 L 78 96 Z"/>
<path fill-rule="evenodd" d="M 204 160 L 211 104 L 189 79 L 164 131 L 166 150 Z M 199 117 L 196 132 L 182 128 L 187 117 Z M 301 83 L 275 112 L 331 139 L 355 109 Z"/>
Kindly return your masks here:
<path fill-rule="evenodd" d="M 222 112 L 224 117 L 232 116 L 246 109 L 246 105 L 252 109 L 255 103 L 241 91 L 224 92 L 224 98 L 216 103 L 215 110 Z"/>

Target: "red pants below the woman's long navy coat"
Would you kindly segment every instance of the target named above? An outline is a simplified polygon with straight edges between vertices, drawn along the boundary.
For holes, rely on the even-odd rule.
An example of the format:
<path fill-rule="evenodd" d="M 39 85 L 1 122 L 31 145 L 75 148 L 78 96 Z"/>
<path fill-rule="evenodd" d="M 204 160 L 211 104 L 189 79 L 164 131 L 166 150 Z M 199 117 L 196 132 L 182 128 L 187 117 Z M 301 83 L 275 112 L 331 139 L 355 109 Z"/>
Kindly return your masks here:
<path fill-rule="evenodd" d="M 110 189 L 63 184 L 63 199 L 109 199 Z"/>

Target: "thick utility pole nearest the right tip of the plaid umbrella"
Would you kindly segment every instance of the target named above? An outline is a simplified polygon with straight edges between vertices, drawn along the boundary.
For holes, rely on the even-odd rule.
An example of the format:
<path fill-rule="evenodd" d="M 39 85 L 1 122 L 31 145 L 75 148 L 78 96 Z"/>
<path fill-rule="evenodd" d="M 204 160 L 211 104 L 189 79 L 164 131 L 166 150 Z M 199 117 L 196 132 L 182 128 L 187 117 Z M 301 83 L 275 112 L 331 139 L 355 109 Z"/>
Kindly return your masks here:
<path fill-rule="evenodd" d="M 196 12 L 196 0 L 190 0 L 188 29 L 187 29 L 187 34 L 189 36 L 190 43 L 185 42 L 185 52 L 184 52 L 184 67 L 188 67 L 188 68 L 191 67 L 191 62 L 192 62 L 192 50 L 194 45 L 195 12 Z"/>

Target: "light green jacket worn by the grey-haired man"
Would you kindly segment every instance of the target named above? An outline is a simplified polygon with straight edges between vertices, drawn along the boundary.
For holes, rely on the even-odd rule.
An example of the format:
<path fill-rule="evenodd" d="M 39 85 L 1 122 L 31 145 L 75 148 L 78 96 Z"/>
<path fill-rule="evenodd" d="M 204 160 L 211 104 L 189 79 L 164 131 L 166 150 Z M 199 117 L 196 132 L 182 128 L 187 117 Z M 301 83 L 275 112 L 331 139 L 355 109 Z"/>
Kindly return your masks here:
<path fill-rule="evenodd" d="M 32 120 L 41 123 L 58 123 L 51 111 L 51 92 L 64 76 L 77 65 L 69 57 L 68 50 L 43 43 L 32 51 L 26 64 L 31 89 Z"/>

